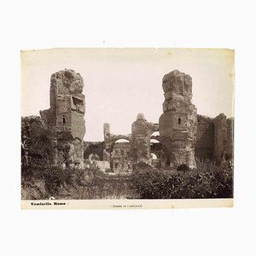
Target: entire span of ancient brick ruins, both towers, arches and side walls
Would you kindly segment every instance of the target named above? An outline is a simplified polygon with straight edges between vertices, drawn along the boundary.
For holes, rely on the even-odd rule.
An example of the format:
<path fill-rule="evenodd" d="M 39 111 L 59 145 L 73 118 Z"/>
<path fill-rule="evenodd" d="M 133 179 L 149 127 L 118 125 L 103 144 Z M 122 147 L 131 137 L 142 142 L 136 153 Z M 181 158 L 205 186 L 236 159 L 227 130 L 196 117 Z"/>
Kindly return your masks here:
<path fill-rule="evenodd" d="M 40 111 L 40 117 L 22 118 L 22 145 L 26 162 L 29 159 L 29 137 L 48 129 L 55 150 L 52 164 L 60 164 L 58 147 L 68 148 L 72 165 L 84 167 L 95 162 L 108 172 L 133 172 L 144 163 L 163 169 L 187 165 L 196 167 L 195 159 L 233 159 L 233 122 L 224 113 L 216 118 L 197 114 L 192 103 L 192 79 L 177 70 L 163 77 L 165 100 L 159 124 L 148 122 L 143 113 L 131 124 L 131 133 L 114 135 L 110 125 L 103 124 L 104 142 L 84 142 L 85 100 L 84 81 L 73 70 L 54 73 L 50 79 L 50 108 Z M 125 117 L 124 117 L 125 118 Z M 159 132 L 155 136 L 154 133 Z M 120 139 L 125 142 L 119 143 Z M 157 140 L 159 143 L 152 143 Z M 63 166 L 65 166 L 65 162 Z"/>

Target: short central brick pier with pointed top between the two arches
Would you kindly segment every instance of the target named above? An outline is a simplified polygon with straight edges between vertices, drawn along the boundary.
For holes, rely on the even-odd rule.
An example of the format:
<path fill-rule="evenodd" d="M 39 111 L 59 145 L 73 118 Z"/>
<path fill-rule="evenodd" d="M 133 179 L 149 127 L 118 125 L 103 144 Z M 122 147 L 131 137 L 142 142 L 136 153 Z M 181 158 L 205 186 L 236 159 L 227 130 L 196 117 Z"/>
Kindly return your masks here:
<path fill-rule="evenodd" d="M 143 113 L 137 114 L 137 120 L 131 125 L 131 158 L 133 166 L 139 162 L 148 165 L 150 161 L 150 138 L 154 131 L 159 131 L 159 125 L 149 123 Z"/>

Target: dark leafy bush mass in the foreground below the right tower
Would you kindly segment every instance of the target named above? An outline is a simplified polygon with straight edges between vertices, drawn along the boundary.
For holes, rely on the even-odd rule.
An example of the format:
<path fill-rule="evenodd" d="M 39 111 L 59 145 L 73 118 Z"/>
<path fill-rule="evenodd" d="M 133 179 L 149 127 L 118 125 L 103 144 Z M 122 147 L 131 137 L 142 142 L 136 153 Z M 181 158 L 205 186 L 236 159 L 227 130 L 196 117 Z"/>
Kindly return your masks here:
<path fill-rule="evenodd" d="M 232 168 L 203 163 L 197 166 L 197 170 L 186 172 L 139 170 L 132 174 L 131 185 L 141 199 L 233 197 Z"/>

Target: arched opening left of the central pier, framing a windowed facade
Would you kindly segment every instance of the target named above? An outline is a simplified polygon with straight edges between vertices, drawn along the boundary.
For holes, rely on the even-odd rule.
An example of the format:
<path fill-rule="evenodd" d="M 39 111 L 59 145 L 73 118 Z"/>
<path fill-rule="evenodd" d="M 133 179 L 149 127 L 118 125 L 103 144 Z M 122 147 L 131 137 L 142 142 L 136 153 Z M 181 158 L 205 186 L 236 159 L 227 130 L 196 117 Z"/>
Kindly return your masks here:
<path fill-rule="evenodd" d="M 111 147 L 110 166 L 113 172 L 131 172 L 131 144 L 126 139 L 115 141 Z"/>

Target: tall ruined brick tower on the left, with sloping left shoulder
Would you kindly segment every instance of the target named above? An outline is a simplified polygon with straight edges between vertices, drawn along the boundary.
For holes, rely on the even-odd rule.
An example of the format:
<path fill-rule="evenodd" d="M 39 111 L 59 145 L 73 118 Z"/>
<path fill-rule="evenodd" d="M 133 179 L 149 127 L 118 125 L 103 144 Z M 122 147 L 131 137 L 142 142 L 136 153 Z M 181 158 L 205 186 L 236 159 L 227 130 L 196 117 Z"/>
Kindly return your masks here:
<path fill-rule="evenodd" d="M 85 134 L 84 80 L 71 69 L 52 74 L 50 79 L 50 108 L 40 115 L 51 131 L 55 131 L 55 145 L 70 148 L 69 159 L 84 165 L 83 138 Z M 58 159 L 58 155 L 55 159 Z"/>

